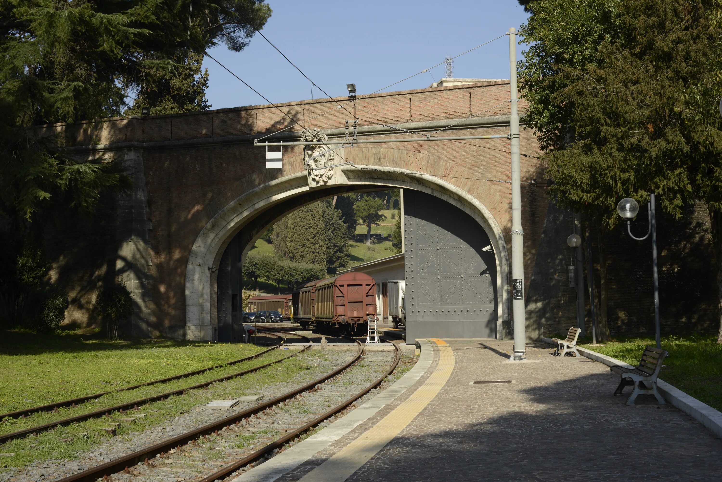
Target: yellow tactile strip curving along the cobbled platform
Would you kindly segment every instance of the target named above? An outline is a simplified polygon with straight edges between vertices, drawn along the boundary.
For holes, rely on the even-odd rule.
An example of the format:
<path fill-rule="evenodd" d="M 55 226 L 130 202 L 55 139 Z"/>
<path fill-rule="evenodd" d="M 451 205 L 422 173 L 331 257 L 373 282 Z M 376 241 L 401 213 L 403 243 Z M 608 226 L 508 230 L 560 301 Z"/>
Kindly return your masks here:
<path fill-rule="evenodd" d="M 443 340 L 431 338 L 439 348 L 439 363 L 434 373 L 416 392 L 393 409 L 375 426 L 341 449 L 329 460 L 303 476 L 303 482 L 342 482 L 361 468 L 371 457 L 383 449 L 393 437 L 399 435 L 426 405 L 438 394 L 451 376 L 454 356 L 451 347 Z"/>

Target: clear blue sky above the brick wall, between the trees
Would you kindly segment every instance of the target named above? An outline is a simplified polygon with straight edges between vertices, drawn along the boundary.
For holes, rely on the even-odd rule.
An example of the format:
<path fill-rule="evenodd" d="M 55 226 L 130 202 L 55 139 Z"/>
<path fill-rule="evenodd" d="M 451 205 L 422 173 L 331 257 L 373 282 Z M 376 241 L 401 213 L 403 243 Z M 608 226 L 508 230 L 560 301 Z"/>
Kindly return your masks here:
<path fill-rule="evenodd" d="M 373 92 L 518 28 L 527 14 L 506 1 L 269 0 L 273 15 L 263 30 L 316 85 L 329 95 Z M 517 56 L 521 57 L 522 46 Z M 260 35 L 238 53 L 217 46 L 210 53 L 271 102 L 325 97 Z M 265 101 L 216 64 L 206 96 L 212 108 Z M 454 77 L 509 78 L 508 38 L 454 59 Z M 444 65 L 388 90 L 428 87 L 445 76 Z M 433 78 L 432 78 L 433 77 Z"/>

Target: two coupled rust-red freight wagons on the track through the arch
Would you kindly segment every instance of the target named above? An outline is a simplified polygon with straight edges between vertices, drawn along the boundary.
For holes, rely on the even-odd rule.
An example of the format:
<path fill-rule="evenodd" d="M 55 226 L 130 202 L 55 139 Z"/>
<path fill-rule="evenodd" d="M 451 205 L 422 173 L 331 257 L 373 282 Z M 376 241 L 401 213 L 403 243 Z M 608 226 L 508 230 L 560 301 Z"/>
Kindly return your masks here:
<path fill-rule="evenodd" d="M 376 316 L 376 282 L 362 272 L 347 272 L 298 286 L 292 298 L 295 321 L 316 324 L 319 332 L 365 335 Z"/>

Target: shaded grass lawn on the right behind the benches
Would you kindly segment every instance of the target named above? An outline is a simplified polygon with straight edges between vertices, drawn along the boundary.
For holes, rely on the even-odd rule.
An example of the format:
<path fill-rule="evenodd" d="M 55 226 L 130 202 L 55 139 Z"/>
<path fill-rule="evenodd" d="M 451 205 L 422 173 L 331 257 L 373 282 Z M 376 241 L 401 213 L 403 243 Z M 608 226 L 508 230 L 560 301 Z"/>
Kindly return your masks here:
<path fill-rule="evenodd" d="M 591 343 L 591 340 L 584 341 Z M 647 345 L 655 346 L 653 337 L 619 338 L 604 342 L 604 346 L 586 348 L 637 366 Z M 662 348 L 669 356 L 664 359 L 666 366 L 659 378 L 710 407 L 722 410 L 722 345 L 718 345 L 717 337 L 672 335 L 662 338 Z"/>

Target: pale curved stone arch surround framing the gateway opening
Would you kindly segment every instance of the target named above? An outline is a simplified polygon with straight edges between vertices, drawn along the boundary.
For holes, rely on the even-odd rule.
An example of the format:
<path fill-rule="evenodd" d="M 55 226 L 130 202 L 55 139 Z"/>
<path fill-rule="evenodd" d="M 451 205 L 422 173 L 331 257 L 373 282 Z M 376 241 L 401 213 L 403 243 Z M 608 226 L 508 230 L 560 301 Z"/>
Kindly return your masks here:
<path fill-rule="evenodd" d="M 242 228 L 254 223 L 255 241 L 265 229 L 287 212 L 324 197 L 360 189 L 380 190 L 389 187 L 416 189 L 432 194 L 455 205 L 482 225 L 490 238 L 497 263 L 497 337 L 510 332 L 509 259 L 503 232 L 492 212 L 477 197 L 501 205 L 502 199 L 494 191 L 469 193 L 469 189 L 445 181 L 442 177 L 464 178 L 455 166 L 432 156 L 406 150 L 362 148 L 339 151 L 342 158 L 355 163 L 334 170 L 334 177 L 326 186 L 310 187 L 305 171 L 256 184 L 248 189 L 248 181 L 241 181 L 222 196 L 225 205 L 209 219 L 196 241 L 186 265 L 186 338 L 212 340 L 214 314 L 214 270 L 230 240 Z M 453 176 L 458 173 L 459 176 Z M 254 176 L 255 177 L 255 176 Z M 483 188 L 482 188 L 483 189 Z M 233 197 L 232 192 L 243 192 Z M 479 196 L 482 194 L 482 196 Z M 251 242 L 252 244 L 252 242 Z M 245 246 L 243 257 L 250 244 Z"/>

